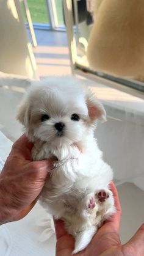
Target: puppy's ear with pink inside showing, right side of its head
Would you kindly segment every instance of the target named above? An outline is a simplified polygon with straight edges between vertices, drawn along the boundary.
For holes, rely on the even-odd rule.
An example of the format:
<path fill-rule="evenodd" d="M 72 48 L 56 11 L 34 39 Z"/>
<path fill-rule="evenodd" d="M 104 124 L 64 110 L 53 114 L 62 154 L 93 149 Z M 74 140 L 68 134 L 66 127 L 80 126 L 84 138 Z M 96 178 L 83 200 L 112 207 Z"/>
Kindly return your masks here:
<path fill-rule="evenodd" d="M 87 90 L 86 102 L 88 108 L 88 115 L 92 122 L 99 120 L 101 122 L 105 122 L 106 119 L 106 111 L 103 105 L 97 100 L 94 93 L 90 90 Z"/>

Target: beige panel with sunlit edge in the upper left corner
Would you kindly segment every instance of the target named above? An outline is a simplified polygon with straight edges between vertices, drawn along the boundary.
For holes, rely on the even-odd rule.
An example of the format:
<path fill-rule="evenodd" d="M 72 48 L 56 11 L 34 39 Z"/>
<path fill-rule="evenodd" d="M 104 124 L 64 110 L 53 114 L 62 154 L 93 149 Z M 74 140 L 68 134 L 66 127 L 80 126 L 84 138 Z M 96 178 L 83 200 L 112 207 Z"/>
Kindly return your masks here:
<path fill-rule="evenodd" d="M 0 2 L 0 71 L 35 78 L 36 64 L 18 0 Z"/>

